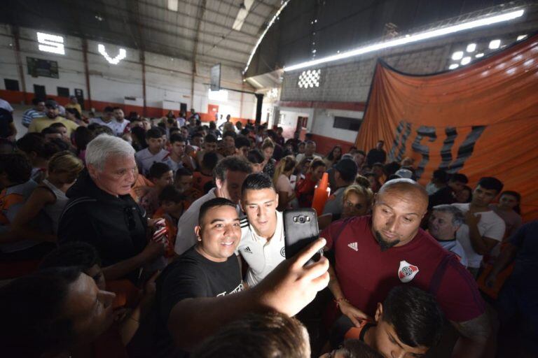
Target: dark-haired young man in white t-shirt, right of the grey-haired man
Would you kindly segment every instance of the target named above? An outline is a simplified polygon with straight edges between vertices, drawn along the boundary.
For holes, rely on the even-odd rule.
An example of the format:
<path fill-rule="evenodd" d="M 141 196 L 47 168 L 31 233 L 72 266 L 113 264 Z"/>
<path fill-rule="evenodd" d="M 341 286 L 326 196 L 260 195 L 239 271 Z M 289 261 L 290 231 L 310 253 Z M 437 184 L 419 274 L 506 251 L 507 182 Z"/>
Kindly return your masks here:
<path fill-rule="evenodd" d="M 475 278 L 478 276 L 483 255 L 489 254 L 504 236 L 504 221 L 489 208 L 490 203 L 502 191 L 502 187 L 502 182 L 497 178 L 481 178 L 470 203 L 452 204 L 465 215 L 465 224 L 457 230 L 456 239 L 463 246 L 469 271 Z"/>

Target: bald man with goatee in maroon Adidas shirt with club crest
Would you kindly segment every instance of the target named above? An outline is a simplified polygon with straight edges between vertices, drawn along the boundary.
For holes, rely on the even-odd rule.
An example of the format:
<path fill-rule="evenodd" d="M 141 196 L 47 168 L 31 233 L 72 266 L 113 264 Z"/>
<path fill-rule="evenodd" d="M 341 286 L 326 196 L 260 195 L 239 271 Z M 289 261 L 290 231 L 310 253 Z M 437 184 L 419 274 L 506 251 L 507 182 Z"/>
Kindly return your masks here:
<path fill-rule="evenodd" d="M 333 222 L 320 235 L 336 262 L 329 268 L 329 289 L 357 327 L 392 287 L 403 282 L 424 289 L 460 333 L 453 357 L 482 357 L 491 333 L 485 303 L 455 255 L 420 229 L 427 206 L 427 192 L 417 182 L 389 180 L 375 196 L 371 216 Z"/>

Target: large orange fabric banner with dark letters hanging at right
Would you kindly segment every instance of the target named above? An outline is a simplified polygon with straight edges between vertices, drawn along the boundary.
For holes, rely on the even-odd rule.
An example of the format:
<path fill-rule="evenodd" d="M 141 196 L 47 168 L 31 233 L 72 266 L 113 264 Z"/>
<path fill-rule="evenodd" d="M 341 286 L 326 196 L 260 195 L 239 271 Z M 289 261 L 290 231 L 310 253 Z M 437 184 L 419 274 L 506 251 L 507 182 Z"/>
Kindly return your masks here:
<path fill-rule="evenodd" d="M 412 157 L 420 182 L 435 169 L 495 176 L 538 218 L 538 36 L 455 71 L 411 76 L 379 62 L 357 148 L 387 143 L 389 161 Z"/>

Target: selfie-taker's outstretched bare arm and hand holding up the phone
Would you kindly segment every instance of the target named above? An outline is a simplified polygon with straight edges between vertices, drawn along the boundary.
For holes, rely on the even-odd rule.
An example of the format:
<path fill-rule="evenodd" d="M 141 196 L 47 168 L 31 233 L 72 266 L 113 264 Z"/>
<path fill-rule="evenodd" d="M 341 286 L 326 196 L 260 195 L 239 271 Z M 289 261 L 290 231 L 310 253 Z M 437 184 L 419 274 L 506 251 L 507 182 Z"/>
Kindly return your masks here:
<path fill-rule="evenodd" d="M 329 282 L 329 262 L 326 258 L 304 266 L 324 245 L 324 239 L 312 243 L 246 291 L 222 297 L 179 301 L 172 308 L 167 322 L 175 343 L 189 350 L 219 327 L 248 312 L 277 310 L 290 316 L 296 315 Z"/>

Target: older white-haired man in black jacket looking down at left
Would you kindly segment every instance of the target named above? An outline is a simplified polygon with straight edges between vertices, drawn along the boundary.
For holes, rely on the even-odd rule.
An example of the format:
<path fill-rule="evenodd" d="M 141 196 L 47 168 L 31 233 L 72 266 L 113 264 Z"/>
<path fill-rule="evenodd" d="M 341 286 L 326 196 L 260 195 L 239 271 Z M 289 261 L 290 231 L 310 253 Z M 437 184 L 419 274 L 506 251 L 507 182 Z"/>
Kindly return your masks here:
<path fill-rule="evenodd" d="M 121 138 L 102 134 L 88 144 L 86 166 L 67 191 L 58 241 L 90 243 L 99 252 L 106 280 L 136 282 L 138 269 L 162 255 L 164 247 L 148 243 L 146 213 L 129 194 L 138 175 L 135 150 Z"/>

